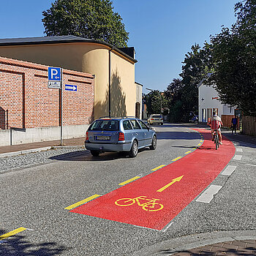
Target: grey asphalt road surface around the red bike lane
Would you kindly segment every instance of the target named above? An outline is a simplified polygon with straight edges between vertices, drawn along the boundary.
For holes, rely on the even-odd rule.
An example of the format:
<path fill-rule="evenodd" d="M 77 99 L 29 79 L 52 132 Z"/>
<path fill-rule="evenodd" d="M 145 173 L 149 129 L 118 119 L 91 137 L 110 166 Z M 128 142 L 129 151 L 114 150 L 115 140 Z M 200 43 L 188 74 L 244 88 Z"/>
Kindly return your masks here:
<path fill-rule="evenodd" d="M 194 151 L 201 140 L 189 126 L 155 128 L 157 149 L 144 149 L 134 159 L 117 153 L 91 157 L 78 150 L 78 154 L 55 155 L 49 161 L 20 165 L 0 174 L 0 236 L 26 227 L 0 241 L 0 255 L 151 255 L 171 238 L 219 230 L 256 230 L 256 147 L 249 143 L 236 143 L 236 154 L 242 157 L 230 161 L 236 166 L 233 173 L 220 174 L 214 180 L 212 184 L 222 187 L 214 199 L 201 203 L 195 198 L 165 230 L 65 209 L 91 195 L 112 192 L 130 178 L 147 176 L 154 167 L 169 165 L 172 159 Z"/>

